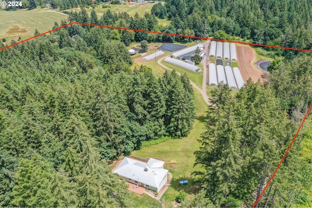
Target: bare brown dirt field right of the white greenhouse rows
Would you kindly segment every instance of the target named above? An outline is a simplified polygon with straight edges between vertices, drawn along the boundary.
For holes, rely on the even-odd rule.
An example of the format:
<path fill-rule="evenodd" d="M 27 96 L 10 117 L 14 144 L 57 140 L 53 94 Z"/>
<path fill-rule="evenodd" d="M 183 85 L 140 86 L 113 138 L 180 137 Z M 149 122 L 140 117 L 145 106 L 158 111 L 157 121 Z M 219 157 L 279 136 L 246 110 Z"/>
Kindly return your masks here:
<path fill-rule="evenodd" d="M 239 71 L 246 82 L 246 80 L 251 77 L 254 82 L 261 78 L 263 72 L 260 72 L 253 64 L 255 59 L 254 49 L 248 45 L 236 45 L 237 61 L 239 66 Z"/>

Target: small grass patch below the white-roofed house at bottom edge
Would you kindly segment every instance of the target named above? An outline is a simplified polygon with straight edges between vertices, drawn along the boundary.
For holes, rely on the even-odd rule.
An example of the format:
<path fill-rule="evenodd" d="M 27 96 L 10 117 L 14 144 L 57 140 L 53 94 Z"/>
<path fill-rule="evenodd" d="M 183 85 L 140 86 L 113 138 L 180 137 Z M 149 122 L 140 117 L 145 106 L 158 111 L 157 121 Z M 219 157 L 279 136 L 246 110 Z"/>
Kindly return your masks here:
<path fill-rule="evenodd" d="M 159 202 L 148 196 L 147 194 L 138 195 L 131 192 L 128 200 L 131 202 L 131 205 L 135 208 L 159 208 L 161 205 Z"/>

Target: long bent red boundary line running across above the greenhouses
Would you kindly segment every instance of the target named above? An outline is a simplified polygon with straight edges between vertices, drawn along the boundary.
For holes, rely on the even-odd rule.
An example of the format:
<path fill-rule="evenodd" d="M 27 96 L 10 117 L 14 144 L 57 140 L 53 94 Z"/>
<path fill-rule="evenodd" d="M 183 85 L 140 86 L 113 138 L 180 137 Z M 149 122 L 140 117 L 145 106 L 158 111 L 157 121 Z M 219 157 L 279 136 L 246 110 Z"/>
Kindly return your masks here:
<path fill-rule="evenodd" d="M 80 25 L 88 25 L 88 26 L 95 26 L 95 27 L 104 27 L 104 28 L 111 28 L 111 29 L 118 29 L 118 30 L 132 30 L 132 31 L 137 31 L 137 32 L 154 33 L 154 34 L 169 35 L 169 36 L 179 36 L 179 37 L 185 37 L 185 38 L 197 38 L 197 39 L 216 40 L 216 41 L 223 41 L 223 42 L 240 43 L 240 44 L 245 44 L 245 45 L 255 45 L 255 46 L 263 46 L 263 47 L 271 47 L 271 48 L 288 49 L 288 50 L 294 50 L 294 51 L 312 52 L 312 50 L 306 50 L 306 49 L 300 49 L 300 48 L 287 48 L 287 47 L 282 47 L 282 46 L 264 45 L 264 44 L 257 44 L 257 43 L 248 43 L 248 42 L 239 42 L 239 41 L 233 41 L 233 40 L 222 40 L 222 39 L 215 39 L 215 38 L 203 38 L 203 37 L 179 35 L 179 34 L 173 34 L 173 33 L 161 33 L 161 32 L 155 32 L 155 31 L 137 30 L 137 29 L 124 28 L 124 27 L 113 27 L 113 26 L 107 26 L 107 25 L 88 24 L 88 23 L 81 23 L 81 22 L 71 22 L 69 24 L 65 24 L 63 26 L 60 26 L 60 27 L 55 28 L 53 30 L 50 30 L 48 32 L 39 34 L 38 36 L 34 36 L 32 38 L 28 38 L 28 39 L 22 40 L 20 42 L 14 43 L 12 45 L 6 46 L 4 48 L 0 48 L 0 51 L 4 50 L 6 48 L 10 48 L 12 46 L 18 45 L 18 44 L 20 44 L 22 42 L 31 40 L 33 38 L 37 38 L 39 36 L 51 33 L 51 32 L 56 31 L 56 30 L 59 30 L 59 29 L 61 29 L 63 27 L 69 26 L 71 24 L 80 24 Z"/>

